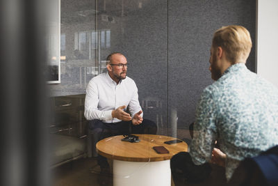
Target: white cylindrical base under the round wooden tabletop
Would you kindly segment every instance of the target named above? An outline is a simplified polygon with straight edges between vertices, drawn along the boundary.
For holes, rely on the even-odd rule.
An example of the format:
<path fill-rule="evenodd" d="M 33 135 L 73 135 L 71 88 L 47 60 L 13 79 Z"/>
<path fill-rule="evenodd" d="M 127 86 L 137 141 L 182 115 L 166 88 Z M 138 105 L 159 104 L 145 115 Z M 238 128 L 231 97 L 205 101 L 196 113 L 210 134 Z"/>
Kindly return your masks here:
<path fill-rule="evenodd" d="M 113 160 L 114 186 L 170 186 L 170 160 L 158 162 L 125 162 Z"/>

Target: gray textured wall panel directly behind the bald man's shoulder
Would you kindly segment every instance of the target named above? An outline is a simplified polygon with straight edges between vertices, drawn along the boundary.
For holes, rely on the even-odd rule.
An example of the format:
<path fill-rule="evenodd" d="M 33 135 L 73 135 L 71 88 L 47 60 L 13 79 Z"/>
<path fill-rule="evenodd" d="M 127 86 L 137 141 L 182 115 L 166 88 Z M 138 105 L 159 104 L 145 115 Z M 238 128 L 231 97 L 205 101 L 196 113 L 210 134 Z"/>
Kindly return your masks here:
<path fill-rule="evenodd" d="M 159 126 L 167 123 L 167 1 L 113 1 L 106 6 L 117 26 L 111 29 L 111 49 L 101 50 L 105 59 L 110 52 L 122 52 L 130 66 L 127 70 L 138 86 L 144 118 Z M 99 2 L 101 12 L 101 2 Z M 159 7 L 159 8 L 157 8 Z M 122 14 L 123 11 L 123 14 Z M 102 29 L 101 24 L 98 24 Z M 144 102 L 144 103 L 143 103 Z M 162 117 L 162 118 L 161 118 Z M 162 131 L 161 131 L 162 132 Z"/>

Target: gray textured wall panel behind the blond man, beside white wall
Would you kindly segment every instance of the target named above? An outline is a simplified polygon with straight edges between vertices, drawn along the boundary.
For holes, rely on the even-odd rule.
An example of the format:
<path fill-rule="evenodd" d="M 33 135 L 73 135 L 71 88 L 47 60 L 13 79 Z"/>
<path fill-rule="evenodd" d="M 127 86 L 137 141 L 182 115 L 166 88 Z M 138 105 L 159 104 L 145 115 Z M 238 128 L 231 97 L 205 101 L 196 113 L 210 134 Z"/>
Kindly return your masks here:
<path fill-rule="evenodd" d="M 195 119 L 199 95 L 213 82 L 208 70 L 213 32 L 229 24 L 249 29 L 255 46 L 256 2 L 169 1 L 169 113 L 177 110 L 178 127 Z M 252 71 L 254 51 L 247 60 Z"/>

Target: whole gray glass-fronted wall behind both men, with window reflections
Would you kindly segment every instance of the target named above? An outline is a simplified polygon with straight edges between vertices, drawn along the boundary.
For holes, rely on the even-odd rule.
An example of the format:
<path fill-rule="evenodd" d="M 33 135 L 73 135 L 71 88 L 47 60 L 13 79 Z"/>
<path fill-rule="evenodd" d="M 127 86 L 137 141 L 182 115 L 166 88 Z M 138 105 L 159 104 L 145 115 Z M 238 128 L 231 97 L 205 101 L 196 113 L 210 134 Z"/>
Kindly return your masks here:
<path fill-rule="evenodd" d="M 51 96 L 85 93 L 106 70 L 106 56 L 122 52 L 138 86 L 144 118 L 158 134 L 190 138 L 188 126 L 208 70 L 211 38 L 221 26 L 240 24 L 255 45 L 253 1 L 60 0 L 60 84 Z M 247 68 L 255 71 L 253 47 Z"/>

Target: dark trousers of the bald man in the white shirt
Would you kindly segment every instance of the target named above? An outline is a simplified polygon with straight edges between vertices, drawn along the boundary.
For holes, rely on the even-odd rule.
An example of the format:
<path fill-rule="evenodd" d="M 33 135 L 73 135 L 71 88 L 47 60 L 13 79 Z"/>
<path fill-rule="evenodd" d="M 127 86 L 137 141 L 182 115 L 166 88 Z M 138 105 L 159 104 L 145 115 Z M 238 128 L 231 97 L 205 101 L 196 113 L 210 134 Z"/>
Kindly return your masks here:
<path fill-rule="evenodd" d="M 121 121 L 118 123 L 104 123 L 99 120 L 89 121 L 88 127 L 95 135 L 95 140 L 100 141 L 107 137 L 113 137 L 122 134 L 156 134 L 156 123 L 144 119 L 140 125 L 133 125 L 131 121 Z M 109 164 L 106 157 L 97 155 L 97 164 L 101 169 L 108 168 Z"/>

